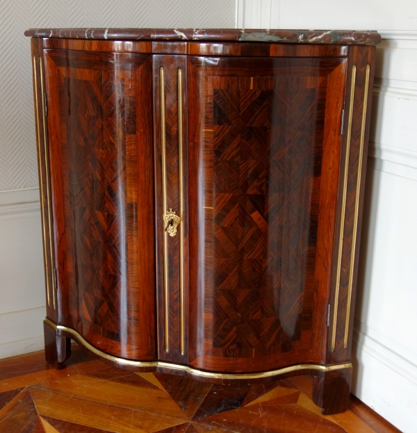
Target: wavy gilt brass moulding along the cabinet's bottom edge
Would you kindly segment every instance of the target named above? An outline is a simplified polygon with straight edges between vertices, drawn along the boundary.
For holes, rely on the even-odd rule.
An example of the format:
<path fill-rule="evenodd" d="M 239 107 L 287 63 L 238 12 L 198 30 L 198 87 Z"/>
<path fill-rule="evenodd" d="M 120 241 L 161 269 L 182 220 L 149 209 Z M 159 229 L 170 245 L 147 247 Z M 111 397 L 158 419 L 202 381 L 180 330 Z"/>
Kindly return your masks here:
<path fill-rule="evenodd" d="M 281 375 L 284 373 L 291 373 L 292 371 L 300 371 L 300 370 L 317 370 L 317 371 L 335 371 L 335 370 L 343 370 L 344 368 L 351 368 L 352 364 L 350 362 L 345 362 L 344 364 L 334 364 L 330 366 L 322 366 L 319 364 L 299 364 L 295 366 L 279 368 L 278 370 L 272 371 L 263 371 L 261 373 L 212 373 L 210 371 L 199 370 L 198 368 L 193 368 L 190 366 L 185 366 L 181 364 L 171 364 L 170 362 L 163 361 L 133 361 L 131 359 L 123 359 L 119 357 L 115 357 L 113 355 L 108 355 L 108 353 L 101 352 L 101 350 L 92 346 L 88 341 L 86 341 L 81 334 L 72 328 L 67 328 L 67 326 L 56 325 L 56 323 L 51 322 L 49 319 L 44 319 L 45 323 L 47 323 L 51 328 L 55 330 L 65 331 L 69 334 L 72 334 L 76 341 L 81 343 L 85 348 L 90 350 L 90 352 L 95 355 L 107 359 L 108 361 L 117 362 L 118 364 L 122 364 L 125 366 L 131 367 L 160 367 L 160 368 L 171 368 L 172 370 L 177 371 L 185 371 L 186 373 L 190 373 L 199 377 L 208 377 L 212 379 L 224 379 L 224 380 L 236 380 L 236 379 L 262 379 L 264 377 L 272 377 L 276 375 Z"/>

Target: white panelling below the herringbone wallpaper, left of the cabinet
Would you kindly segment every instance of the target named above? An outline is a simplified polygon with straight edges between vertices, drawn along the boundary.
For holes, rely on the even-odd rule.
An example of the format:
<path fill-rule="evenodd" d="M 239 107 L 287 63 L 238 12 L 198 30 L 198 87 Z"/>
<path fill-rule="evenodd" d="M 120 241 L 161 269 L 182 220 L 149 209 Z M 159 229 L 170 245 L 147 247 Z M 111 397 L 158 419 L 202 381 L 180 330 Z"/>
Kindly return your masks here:
<path fill-rule="evenodd" d="M 43 348 L 38 188 L 0 192 L 0 358 Z"/>

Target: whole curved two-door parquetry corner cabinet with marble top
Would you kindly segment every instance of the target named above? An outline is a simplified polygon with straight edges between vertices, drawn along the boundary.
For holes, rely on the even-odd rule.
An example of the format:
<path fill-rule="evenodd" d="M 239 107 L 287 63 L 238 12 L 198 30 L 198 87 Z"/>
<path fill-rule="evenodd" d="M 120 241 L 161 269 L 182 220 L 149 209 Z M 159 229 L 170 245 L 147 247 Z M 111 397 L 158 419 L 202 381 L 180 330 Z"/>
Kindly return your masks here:
<path fill-rule="evenodd" d="M 347 407 L 376 32 L 38 29 L 47 361 Z"/>

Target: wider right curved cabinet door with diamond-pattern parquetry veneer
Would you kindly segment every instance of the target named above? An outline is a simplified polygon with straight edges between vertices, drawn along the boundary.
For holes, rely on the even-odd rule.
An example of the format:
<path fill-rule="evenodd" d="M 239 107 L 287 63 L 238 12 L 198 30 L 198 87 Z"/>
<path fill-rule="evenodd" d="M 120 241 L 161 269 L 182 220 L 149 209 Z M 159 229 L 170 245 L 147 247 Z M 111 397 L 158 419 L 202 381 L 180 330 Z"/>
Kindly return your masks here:
<path fill-rule="evenodd" d="M 190 364 L 324 363 L 346 59 L 187 71 Z"/>

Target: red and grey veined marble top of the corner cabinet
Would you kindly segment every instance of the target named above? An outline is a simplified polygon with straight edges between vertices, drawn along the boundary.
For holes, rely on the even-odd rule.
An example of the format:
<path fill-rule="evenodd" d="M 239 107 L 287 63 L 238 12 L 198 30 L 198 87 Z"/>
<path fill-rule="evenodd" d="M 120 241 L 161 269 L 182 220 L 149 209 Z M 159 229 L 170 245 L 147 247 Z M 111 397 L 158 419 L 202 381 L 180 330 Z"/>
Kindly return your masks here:
<path fill-rule="evenodd" d="M 377 31 L 353 30 L 261 30 L 256 28 L 30 28 L 30 37 L 89 40 L 188 40 L 269 42 L 287 44 L 377 45 Z"/>

